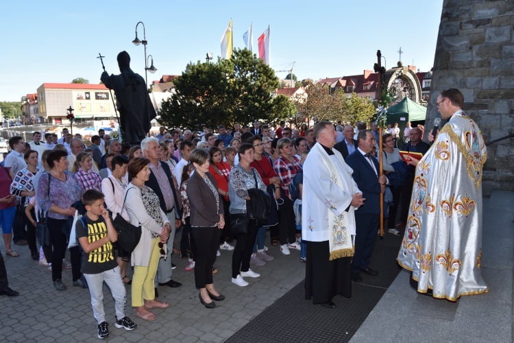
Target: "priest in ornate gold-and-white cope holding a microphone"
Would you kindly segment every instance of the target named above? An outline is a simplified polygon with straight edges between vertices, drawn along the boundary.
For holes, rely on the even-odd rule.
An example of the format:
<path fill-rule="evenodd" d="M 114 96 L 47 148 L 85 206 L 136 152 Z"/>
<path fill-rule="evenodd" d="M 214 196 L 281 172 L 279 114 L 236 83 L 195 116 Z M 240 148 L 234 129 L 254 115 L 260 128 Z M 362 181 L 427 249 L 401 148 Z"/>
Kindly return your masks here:
<path fill-rule="evenodd" d="M 480 128 L 463 113 L 458 89 L 442 91 L 437 108 L 449 119 L 416 165 L 404 239 L 397 261 L 411 270 L 417 292 L 456 301 L 488 292 L 482 279 Z"/>

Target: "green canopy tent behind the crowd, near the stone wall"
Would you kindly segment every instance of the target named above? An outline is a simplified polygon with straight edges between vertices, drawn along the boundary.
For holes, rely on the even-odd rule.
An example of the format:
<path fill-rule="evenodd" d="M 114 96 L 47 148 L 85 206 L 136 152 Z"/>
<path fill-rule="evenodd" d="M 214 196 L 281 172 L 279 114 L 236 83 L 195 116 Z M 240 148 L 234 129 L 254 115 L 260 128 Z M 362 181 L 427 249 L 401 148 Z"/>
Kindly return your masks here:
<path fill-rule="evenodd" d="M 407 121 L 411 121 L 411 126 L 415 128 L 417 124 L 423 124 L 425 119 L 426 107 L 413 102 L 409 97 L 404 97 L 401 102 L 387 108 L 386 124 L 391 124 L 391 127 L 394 127 L 395 123 L 398 123 L 402 141 L 405 141 L 404 129 L 407 126 Z"/>

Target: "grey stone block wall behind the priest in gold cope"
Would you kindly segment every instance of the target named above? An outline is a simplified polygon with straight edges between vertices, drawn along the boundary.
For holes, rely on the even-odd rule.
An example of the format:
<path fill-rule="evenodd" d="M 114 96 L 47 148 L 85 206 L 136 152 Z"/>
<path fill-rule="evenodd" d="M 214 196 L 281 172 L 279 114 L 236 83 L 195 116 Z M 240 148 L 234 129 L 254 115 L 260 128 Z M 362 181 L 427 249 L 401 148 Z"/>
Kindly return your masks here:
<path fill-rule="evenodd" d="M 514 1 L 445 0 L 439 25 L 426 128 L 439 117 L 435 99 L 459 88 L 464 111 L 485 141 L 514 132 Z M 514 138 L 487 147 L 483 193 L 514 191 Z"/>

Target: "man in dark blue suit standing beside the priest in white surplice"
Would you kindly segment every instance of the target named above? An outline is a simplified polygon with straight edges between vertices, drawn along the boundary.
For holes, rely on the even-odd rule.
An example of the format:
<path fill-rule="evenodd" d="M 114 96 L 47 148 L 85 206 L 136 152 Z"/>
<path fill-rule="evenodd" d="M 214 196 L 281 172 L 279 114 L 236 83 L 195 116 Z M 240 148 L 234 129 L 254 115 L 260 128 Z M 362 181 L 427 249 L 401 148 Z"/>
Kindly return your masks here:
<path fill-rule="evenodd" d="M 366 199 L 363 206 L 355 211 L 355 255 L 352 260 L 352 280 L 355 282 L 363 280 L 361 271 L 368 275 L 378 274 L 369 268 L 369 260 L 380 224 L 380 193 L 384 193 L 387 184 L 385 176 L 378 177 L 380 166 L 371 156 L 376 144 L 374 134 L 371 130 L 359 131 L 357 139 L 357 149 L 345 160 L 354 169 L 352 176 Z"/>

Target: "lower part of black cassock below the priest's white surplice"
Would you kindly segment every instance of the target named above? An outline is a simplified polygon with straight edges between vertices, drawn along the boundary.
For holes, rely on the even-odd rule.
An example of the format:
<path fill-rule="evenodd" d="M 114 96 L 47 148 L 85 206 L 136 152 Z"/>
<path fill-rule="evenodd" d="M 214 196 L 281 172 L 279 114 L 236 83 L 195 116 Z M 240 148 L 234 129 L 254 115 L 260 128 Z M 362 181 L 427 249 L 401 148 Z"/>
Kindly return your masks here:
<path fill-rule="evenodd" d="M 305 298 L 313 304 L 330 303 L 336 294 L 352 296 L 352 257 L 330 258 L 328 241 L 306 241 Z"/>

